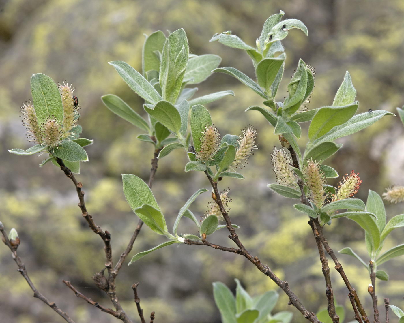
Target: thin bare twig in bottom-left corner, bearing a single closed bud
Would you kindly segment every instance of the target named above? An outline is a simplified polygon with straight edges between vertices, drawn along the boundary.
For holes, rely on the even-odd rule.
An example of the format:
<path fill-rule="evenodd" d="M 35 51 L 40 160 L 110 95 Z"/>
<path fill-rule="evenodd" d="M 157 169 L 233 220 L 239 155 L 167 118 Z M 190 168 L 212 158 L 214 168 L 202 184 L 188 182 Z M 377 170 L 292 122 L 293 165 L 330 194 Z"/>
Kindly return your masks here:
<path fill-rule="evenodd" d="M 17 255 L 17 245 L 13 245 L 10 241 L 10 239 L 8 239 L 6 232 L 4 231 L 4 225 L 2 224 L 2 222 L 0 222 L 0 231 L 2 233 L 2 240 L 4 242 L 4 244 L 10 249 L 11 251 L 11 255 L 13 256 L 13 259 L 15 261 L 15 263 L 18 266 L 18 271 L 20 272 L 20 274 L 24 277 L 25 281 L 27 281 L 29 287 L 31 287 L 32 291 L 34 292 L 34 297 L 38 298 L 40 300 L 42 300 L 42 302 L 44 302 L 46 305 L 48 305 L 50 308 L 52 308 L 57 314 L 59 314 L 61 317 L 63 317 L 63 319 L 65 319 L 65 321 L 69 322 L 69 323 L 75 323 L 71 317 L 69 317 L 69 315 L 67 315 L 67 313 L 63 312 L 56 304 L 55 302 L 51 302 L 50 300 L 48 300 L 45 296 L 43 296 L 38 289 L 36 289 L 34 283 L 32 283 L 31 279 L 28 276 L 28 272 L 27 269 L 25 268 L 25 265 L 23 263 L 23 261 L 21 260 L 21 258 Z"/>

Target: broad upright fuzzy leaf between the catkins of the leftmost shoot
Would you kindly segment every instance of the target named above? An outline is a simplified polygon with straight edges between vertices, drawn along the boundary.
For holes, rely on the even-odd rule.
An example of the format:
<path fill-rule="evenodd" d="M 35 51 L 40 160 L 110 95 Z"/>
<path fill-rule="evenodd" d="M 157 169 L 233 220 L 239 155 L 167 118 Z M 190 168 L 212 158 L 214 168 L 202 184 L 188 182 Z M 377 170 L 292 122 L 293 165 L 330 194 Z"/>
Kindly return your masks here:
<path fill-rule="evenodd" d="M 50 116 L 63 121 L 63 105 L 59 88 L 53 80 L 42 73 L 31 77 L 32 102 L 38 124 L 43 124 Z"/>

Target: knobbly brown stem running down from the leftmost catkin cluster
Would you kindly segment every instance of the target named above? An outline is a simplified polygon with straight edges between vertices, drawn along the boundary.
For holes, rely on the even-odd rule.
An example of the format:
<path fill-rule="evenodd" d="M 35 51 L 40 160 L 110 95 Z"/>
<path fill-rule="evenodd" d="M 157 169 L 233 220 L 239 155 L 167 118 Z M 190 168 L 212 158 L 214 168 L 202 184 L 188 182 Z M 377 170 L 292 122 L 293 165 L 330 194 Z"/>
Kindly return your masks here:
<path fill-rule="evenodd" d="M 129 317 L 126 315 L 125 311 L 123 310 L 118 297 L 116 296 L 116 284 L 115 284 L 115 278 L 116 274 L 114 273 L 114 268 L 113 266 L 113 261 L 112 261 L 112 248 L 111 248 L 111 234 L 105 230 L 105 232 L 101 229 L 101 227 L 97 224 L 95 224 L 93 217 L 88 214 L 87 208 L 86 208 L 86 203 L 84 201 L 84 192 L 82 191 L 82 183 L 78 182 L 76 180 L 76 177 L 74 177 L 74 174 L 65 166 L 63 163 L 63 160 L 60 158 L 56 158 L 57 163 L 60 165 L 60 169 L 63 170 L 65 175 L 72 180 L 74 183 L 74 186 L 76 187 L 77 195 L 79 198 L 80 203 L 78 203 L 78 206 L 80 207 L 80 210 L 82 212 L 82 216 L 84 219 L 87 221 L 88 226 L 93 230 L 94 233 L 97 233 L 101 237 L 101 239 L 104 241 L 104 251 L 105 251 L 105 267 L 107 268 L 108 271 L 108 288 L 105 291 L 107 295 L 109 296 L 109 299 L 111 300 L 112 304 L 114 305 L 116 312 L 119 314 L 119 319 L 123 321 L 124 323 L 133 323 L 132 320 L 129 319 Z"/>

